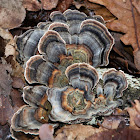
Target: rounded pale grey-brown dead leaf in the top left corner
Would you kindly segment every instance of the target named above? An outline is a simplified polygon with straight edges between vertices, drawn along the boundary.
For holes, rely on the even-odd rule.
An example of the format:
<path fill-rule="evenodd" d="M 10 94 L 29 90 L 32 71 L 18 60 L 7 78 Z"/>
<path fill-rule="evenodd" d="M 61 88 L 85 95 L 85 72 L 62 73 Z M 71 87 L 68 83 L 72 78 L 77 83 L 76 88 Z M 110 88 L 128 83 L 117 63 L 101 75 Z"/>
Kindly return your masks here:
<path fill-rule="evenodd" d="M 0 1 L 0 27 L 13 29 L 21 25 L 26 15 L 22 0 Z"/>

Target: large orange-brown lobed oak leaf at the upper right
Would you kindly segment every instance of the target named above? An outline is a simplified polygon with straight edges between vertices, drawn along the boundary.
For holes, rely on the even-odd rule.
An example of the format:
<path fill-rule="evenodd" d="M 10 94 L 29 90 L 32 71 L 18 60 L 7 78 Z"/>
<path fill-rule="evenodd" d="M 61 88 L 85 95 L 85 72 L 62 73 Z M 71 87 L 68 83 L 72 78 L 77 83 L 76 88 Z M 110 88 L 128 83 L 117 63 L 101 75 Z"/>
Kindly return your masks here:
<path fill-rule="evenodd" d="M 132 0 L 89 0 L 90 2 L 104 5 L 116 20 L 108 22 L 109 29 L 117 32 L 123 32 L 120 39 L 125 45 L 132 45 L 134 62 L 136 68 L 140 71 L 140 15 L 132 5 Z M 134 3 L 133 3 L 134 4 Z"/>

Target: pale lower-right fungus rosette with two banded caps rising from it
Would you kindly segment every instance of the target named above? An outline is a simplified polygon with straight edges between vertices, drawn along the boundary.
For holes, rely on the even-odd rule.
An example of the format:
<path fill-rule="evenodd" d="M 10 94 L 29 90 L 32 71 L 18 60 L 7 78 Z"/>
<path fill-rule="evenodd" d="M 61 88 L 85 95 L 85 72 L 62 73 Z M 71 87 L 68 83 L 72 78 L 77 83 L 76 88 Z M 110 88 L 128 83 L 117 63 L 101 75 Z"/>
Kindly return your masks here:
<path fill-rule="evenodd" d="M 92 89 L 97 85 L 99 76 L 94 67 L 75 63 L 67 67 L 66 75 L 69 77 L 69 86 L 54 87 L 47 91 L 48 101 L 52 105 L 52 121 L 83 122 L 94 115 L 109 115 L 123 102 L 117 99 L 118 92 L 122 93 L 127 87 L 122 71 L 112 69 L 105 72 L 102 78 L 104 84 L 100 87 L 103 92 L 97 90 L 96 93 Z"/>

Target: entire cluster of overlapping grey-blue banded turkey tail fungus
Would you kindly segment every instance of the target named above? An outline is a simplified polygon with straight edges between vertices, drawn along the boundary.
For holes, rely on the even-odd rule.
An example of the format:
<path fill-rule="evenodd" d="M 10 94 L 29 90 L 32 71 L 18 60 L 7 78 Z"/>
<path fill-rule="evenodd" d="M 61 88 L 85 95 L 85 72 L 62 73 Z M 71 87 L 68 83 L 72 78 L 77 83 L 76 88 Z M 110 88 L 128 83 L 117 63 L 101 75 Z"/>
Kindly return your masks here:
<path fill-rule="evenodd" d="M 18 60 L 29 86 L 23 89 L 28 105 L 12 118 L 15 131 L 38 134 L 43 123 L 85 122 L 122 104 L 118 98 L 127 88 L 123 72 L 105 72 L 101 85 L 96 71 L 109 63 L 114 44 L 103 18 L 68 9 L 52 12 L 50 20 L 17 37 Z"/>

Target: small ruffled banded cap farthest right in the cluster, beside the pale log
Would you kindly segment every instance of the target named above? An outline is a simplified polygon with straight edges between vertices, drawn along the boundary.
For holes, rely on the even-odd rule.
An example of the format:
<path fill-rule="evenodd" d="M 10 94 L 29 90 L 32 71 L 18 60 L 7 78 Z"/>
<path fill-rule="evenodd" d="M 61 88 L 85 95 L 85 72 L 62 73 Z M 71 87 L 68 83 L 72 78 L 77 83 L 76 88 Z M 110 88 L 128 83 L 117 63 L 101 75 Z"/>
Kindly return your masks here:
<path fill-rule="evenodd" d="M 106 97 L 121 97 L 123 91 L 127 88 L 127 80 L 122 71 L 111 69 L 104 73 L 104 94 Z"/>

